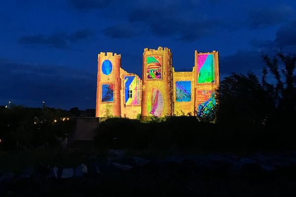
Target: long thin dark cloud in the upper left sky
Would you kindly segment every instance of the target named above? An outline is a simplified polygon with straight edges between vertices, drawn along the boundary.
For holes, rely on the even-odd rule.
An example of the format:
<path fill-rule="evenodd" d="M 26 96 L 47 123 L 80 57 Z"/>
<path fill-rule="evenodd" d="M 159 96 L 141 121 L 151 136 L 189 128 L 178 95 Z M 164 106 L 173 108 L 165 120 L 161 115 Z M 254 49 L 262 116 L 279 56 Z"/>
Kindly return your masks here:
<path fill-rule="evenodd" d="M 50 35 L 24 35 L 18 39 L 18 43 L 30 46 L 43 45 L 47 47 L 65 49 L 68 48 L 69 43 L 75 43 L 80 40 L 88 39 L 92 36 L 92 34 L 93 33 L 91 31 L 84 29 L 70 34 L 53 33 Z"/>

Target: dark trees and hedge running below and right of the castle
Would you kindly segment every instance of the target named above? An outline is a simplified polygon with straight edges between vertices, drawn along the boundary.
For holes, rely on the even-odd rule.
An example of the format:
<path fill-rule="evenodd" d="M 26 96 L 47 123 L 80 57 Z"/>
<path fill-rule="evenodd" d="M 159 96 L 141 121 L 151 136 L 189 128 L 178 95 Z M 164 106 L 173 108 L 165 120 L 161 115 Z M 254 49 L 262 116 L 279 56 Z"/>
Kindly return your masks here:
<path fill-rule="evenodd" d="M 150 124 L 108 119 L 97 130 L 104 149 L 257 152 L 296 149 L 296 55 L 262 55 L 261 78 L 232 73 L 218 91 L 216 124 L 166 117 Z M 267 82 L 267 77 L 273 83 Z M 163 121 L 165 120 L 165 121 Z"/>

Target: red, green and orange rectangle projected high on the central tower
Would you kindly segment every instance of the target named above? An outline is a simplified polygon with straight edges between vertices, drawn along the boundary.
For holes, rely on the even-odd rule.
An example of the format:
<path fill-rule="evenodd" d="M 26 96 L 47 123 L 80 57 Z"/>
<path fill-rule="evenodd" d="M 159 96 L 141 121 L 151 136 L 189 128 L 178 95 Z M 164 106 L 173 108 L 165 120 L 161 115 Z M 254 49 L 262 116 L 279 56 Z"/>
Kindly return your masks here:
<path fill-rule="evenodd" d="M 161 79 L 162 56 L 151 55 L 146 57 L 147 79 Z"/>

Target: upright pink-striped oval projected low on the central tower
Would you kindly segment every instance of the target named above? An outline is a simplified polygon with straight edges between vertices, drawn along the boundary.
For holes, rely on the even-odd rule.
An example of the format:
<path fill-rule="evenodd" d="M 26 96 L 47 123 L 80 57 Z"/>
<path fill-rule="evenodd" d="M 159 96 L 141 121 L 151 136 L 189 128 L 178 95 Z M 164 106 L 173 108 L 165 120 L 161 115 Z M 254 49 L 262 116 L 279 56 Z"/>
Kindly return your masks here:
<path fill-rule="evenodd" d="M 151 88 L 147 95 L 147 110 L 152 116 L 159 117 L 163 111 L 163 97 L 159 89 Z"/>

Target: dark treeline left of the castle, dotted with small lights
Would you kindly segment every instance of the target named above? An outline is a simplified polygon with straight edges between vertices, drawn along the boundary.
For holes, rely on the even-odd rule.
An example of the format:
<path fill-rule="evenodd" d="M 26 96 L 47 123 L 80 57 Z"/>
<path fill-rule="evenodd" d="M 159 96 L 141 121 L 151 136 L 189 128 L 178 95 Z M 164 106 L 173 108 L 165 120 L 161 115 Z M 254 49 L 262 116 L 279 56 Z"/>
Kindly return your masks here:
<path fill-rule="evenodd" d="M 58 145 L 74 130 L 76 117 L 95 116 L 95 109 L 69 111 L 47 106 L 0 106 L 0 150 L 36 149 Z"/>

